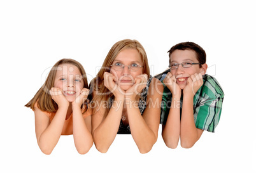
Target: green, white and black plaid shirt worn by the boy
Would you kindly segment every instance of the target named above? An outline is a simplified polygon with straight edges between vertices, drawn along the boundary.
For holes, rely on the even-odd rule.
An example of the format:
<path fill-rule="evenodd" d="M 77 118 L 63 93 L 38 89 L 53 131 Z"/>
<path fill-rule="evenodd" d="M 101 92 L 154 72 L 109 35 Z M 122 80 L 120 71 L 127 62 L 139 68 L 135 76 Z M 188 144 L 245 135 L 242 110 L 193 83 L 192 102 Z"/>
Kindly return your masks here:
<path fill-rule="evenodd" d="M 166 77 L 169 70 L 155 76 L 161 82 Z M 218 81 L 210 75 L 203 76 L 204 84 L 194 96 L 194 121 L 198 129 L 215 132 L 215 128 L 220 120 L 222 113 L 222 103 L 224 92 Z M 182 110 L 182 98 L 180 109 Z M 166 120 L 171 108 L 171 91 L 164 85 L 162 95 L 160 124 L 166 124 Z M 181 113 L 181 111 L 180 111 Z"/>

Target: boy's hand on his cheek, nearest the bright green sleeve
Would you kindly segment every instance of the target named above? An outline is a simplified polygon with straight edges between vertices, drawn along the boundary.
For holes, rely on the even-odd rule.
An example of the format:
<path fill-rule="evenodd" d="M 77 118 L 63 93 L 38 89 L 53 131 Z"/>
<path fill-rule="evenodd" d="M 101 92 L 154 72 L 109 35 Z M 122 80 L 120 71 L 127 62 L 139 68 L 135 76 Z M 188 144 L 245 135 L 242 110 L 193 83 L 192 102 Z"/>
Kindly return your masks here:
<path fill-rule="evenodd" d="M 187 86 L 183 89 L 184 95 L 189 95 L 194 97 L 198 89 L 203 85 L 203 76 L 202 74 L 190 75 L 187 80 Z"/>

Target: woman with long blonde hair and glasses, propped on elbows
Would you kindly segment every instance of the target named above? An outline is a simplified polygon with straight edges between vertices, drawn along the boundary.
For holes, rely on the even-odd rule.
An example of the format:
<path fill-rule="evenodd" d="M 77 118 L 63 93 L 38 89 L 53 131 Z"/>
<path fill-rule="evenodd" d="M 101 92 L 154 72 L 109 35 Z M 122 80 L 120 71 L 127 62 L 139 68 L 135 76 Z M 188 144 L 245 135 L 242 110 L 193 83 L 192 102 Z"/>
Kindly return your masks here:
<path fill-rule="evenodd" d="M 97 150 L 106 153 L 117 134 L 131 134 L 141 153 L 150 151 L 157 141 L 163 86 L 150 75 L 143 46 L 130 39 L 115 43 L 91 84 Z"/>

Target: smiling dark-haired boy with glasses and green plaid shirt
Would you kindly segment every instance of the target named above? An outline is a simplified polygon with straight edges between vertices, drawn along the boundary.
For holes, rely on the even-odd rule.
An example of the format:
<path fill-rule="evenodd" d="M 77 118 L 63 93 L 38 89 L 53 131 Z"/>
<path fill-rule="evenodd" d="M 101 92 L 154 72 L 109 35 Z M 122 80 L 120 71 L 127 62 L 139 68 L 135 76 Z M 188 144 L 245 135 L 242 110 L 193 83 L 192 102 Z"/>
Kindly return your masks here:
<path fill-rule="evenodd" d="M 169 69 L 156 75 L 164 84 L 160 124 L 169 148 L 191 148 L 203 131 L 215 132 L 224 92 L 206 75 L 206 53 L 194 42 L 181 42 L 169 51 Z"/>

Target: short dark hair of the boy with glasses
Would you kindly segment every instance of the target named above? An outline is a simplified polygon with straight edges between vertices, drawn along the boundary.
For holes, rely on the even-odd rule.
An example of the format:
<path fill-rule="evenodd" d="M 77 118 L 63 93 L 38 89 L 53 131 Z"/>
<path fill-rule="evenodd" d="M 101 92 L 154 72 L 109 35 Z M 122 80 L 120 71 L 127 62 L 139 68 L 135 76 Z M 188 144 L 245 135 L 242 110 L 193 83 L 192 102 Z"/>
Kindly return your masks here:
<path fill-rule="evenodd" d="M 171 54 L 176 50 L 192 50 L 195 51 L 197 54 L 197 60 L 199 61 L 199 63 L 204 64 L 206 63 L 206 53 L 204 51 L 203 48 L 201 48 L 201 46 L 199 46 L 198 44 L 194 43 L 194 42 L 180 42 L 176 45 L 174 45 L 173 47 L 171 47 L 171 49 L 169 49 L 169 51 L 167 51 L 167 53 L 169 53 L 169 58 L 171 58 Z M 171 61 L 171 60 L 170 60 Z M 200 65 L 200 68 L 202 66 Z"/>

